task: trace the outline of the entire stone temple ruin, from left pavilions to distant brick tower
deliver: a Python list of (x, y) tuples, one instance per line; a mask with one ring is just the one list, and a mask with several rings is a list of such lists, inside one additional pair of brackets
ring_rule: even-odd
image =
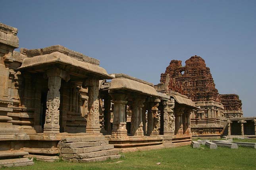
[[(99, 60), (61, 45), (14, 51), (17, 32), (0, 23), (0, 166), (116, 159), (237, 134), (231, 125), (249, 120), (237, 95), (218, 93), (198, 56), (184, 67), (172, 60), (154, 85), (108, 74)], [(255, 119), (241, 135), (256, 135)]]

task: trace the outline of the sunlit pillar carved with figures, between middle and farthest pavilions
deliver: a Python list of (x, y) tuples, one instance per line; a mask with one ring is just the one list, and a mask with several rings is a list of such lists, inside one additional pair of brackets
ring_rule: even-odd
[(175, 117), (173, 114), (174, 99), (162, 101), (164, 106), (164, 135), (174, 134)]

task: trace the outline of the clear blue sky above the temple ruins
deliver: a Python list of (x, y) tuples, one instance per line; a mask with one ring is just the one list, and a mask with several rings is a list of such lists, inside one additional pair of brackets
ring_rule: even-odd
[(256, 0), (0, 0), (20, 47), (64, 45), (108, 73), (159, 83), (169, 62), (199, 55), (220, 94), (256, 116)]

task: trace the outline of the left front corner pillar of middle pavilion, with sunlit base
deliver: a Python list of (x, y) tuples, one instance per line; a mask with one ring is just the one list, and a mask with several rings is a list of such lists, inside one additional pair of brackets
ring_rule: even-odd
[(112, 94), (114, 99), (114, 120), (113, 130), (111, 135), (114, 137), (127, 136), (126, 121), (125, 121), (125, 104), (127, 104), (127, 94), (115, 93)]

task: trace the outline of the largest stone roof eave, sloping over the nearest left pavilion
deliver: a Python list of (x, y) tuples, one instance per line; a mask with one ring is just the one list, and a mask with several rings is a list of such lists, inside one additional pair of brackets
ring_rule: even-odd
[(58, 65), (65, 71), (79, 71), (81, 75), (85, 74), (87, 76), (89, 75), (90, 77), (97, 77), (98, 79), (114, 78), (114, 76), (109, 75), (104, 68), (96, 64), (82, 62), (60, 52), (25, 58), (18, 69), (28, 70), (31, 72), (44, 72), (53, 65)]

